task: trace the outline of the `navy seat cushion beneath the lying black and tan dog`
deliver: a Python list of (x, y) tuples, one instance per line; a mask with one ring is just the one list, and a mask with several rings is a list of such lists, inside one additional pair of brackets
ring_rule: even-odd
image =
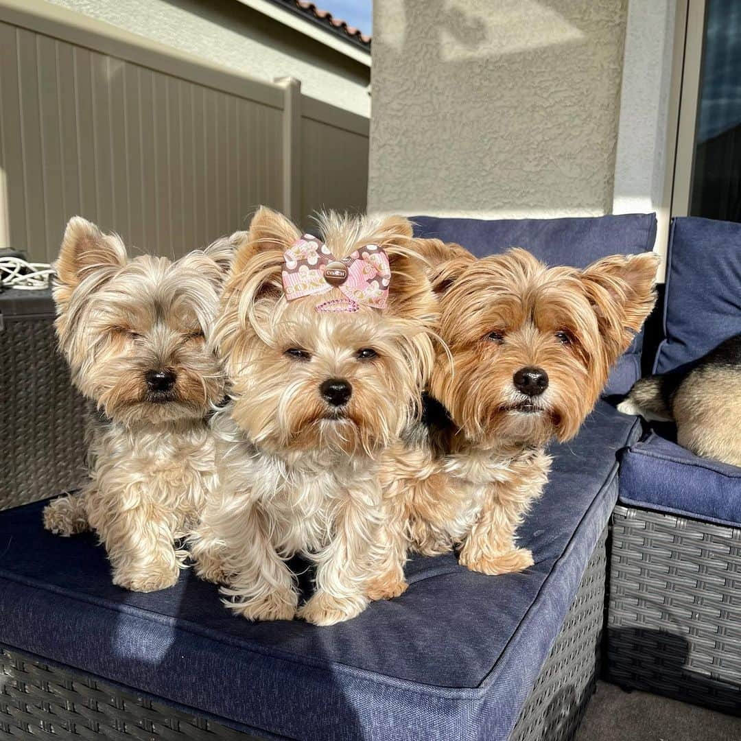
[(741, 468), (700, 458), (662, 435), (652, 431), (622, 454), (620, 501), (741, 527)]

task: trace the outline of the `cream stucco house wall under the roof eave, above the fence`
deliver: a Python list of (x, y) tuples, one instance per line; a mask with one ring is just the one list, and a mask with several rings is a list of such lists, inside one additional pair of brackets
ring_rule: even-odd
[(47, 0), (187, 54), (302, 92), (361, 116), (370, 113), (370, 70), (236, 0)]

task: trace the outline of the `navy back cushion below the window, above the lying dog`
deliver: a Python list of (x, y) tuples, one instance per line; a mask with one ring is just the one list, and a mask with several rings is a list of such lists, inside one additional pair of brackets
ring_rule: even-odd
[(687, 365), (741, 333), (741, 224), (674, 219), (666, 273), (664, 340), (655, 373)]

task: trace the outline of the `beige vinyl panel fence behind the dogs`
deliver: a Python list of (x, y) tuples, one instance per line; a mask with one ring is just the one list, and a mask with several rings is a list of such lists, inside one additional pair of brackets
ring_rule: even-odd
[(0, 0), (0, 247), (56, 256), (85, 216), (179, 256), (260, 204), (364, 211), (368, 119), (42, 0)]

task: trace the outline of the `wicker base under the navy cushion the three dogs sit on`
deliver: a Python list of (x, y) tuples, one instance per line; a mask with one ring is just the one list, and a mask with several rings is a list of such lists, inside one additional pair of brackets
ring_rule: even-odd
[[(605, 534), (511, 739), (565, 741), (573, 737), (594, 691), (604, 597)], [(136, 697), (0, 647), (0, 738), (51, 734), (59, 739), (90, 740), (254, 740), (165, 702)]]

